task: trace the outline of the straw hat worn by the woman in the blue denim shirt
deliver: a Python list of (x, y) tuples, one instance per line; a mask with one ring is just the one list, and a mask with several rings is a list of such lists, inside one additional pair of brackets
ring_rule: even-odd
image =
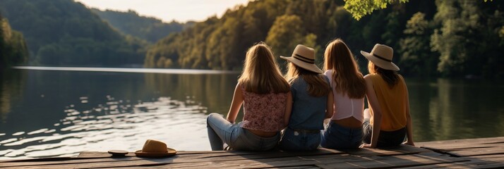
[(310, 70), (314, 73), (322, 73), (322, 70), (315, 65), (315, 50), (302, 44), (298, 44), (296, 46), (291, 57), (280, 56), (280, 58), (290, 61), (294, 63), (294, 65)]

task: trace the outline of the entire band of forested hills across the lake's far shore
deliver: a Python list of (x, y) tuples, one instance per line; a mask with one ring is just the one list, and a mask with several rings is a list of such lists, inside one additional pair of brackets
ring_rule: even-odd
[[(366, 4), (373, 2), (383, 4)], [(203, 22), (162, 23), (73, 0), (2, 0), (1, 64), (241, 70), (248, 47), (266, 42), (275, 56), (289, 56), (296, 44), (311, 46), (321, 66), (325, 45), (341, 38), (363, 73), (359, 51), (380, 43), (392, 46), (404, 75), (502, 79), (503, 6), (496, 0), (259, 0)]]

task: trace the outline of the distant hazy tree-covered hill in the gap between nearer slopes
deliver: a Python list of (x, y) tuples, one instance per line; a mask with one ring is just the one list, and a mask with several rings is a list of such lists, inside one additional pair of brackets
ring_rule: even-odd
[(150, 43), (157, 42), (172, 32), (181, 32), (184, 29), (183, 23), (176, 21), (163, 23), (162, 20), (140, 16), (131, 10), (127, 12), (100, 11), (97, 8), (92, 8), (92, 11), (124, 34), (144, 39)]

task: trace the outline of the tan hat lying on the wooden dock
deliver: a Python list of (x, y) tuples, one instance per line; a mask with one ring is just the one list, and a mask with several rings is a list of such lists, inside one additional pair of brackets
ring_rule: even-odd
[(168, 148), (167, 144), (154, 139), (148, 139), (143, 144), (143, 148), (135, 152), (136, 156), (142, 157), (164, 157), (176, 154), (175, 149)]

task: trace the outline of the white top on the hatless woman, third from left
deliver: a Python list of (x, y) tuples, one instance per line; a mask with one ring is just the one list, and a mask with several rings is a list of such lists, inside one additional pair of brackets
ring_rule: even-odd
[(334, 72), (327, 70), (324, 73), (331, 84), (332, 94), (334, 94), (334, 112), (332, 120), (340, 120), (344, 118), (354, 117), (359, 121), (364, 120), (364, 97), (361, 99), (350, 99), (347, 94), (336, 92), (335, 82), (332, 79)]

